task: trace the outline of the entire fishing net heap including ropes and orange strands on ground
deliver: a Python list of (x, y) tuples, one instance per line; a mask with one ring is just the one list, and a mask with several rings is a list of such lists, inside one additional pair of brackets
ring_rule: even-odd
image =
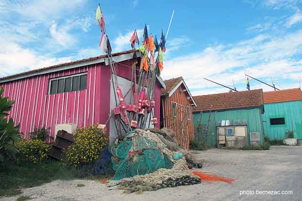
[[(183, 157), (179, 157), (180, 153)], [(118, 185), (117, 188), (125, 193), (139, 194), (160, 188), (197, 184), (201, 181), (234, 181), (190, 171), (189, 168), (196, 164), (196, 159), (178, 146), (173, 131), (167, 128), (135, 129), (128, 133), (122, 142), (111, 148), (111, 154), (115, 175), (108, 186)]]

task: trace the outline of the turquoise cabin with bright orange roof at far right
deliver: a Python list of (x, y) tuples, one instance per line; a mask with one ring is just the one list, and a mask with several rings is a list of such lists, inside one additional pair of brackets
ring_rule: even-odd
[(300, 88), (266, 91), (263, 126), (270, 140), (283, 140), (287, 131), (302, 140), (302, 92)]

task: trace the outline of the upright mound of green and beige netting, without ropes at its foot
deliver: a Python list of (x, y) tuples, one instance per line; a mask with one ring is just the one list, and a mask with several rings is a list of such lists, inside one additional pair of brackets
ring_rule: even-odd
[[(111, 154), (115, 181), (152, 173), (160, 168), (170, 169), (176, 163), (173, 159), (175, 153), (157, 134), (142, 129), (127, 134), (123, 142), (111, 148)], [(188, 169), (183, 161), (182, 169)]]

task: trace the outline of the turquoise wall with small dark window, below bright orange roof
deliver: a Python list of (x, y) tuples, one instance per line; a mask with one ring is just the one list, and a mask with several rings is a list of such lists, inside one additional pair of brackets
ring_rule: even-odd
[[(270, 118), (284, 117), (285, 125), (270, 125)], [(292, 130), (302, 139), (302, 101), (264, 104), (264, 135), (270, 140), (283, 140), (285, 132)]]

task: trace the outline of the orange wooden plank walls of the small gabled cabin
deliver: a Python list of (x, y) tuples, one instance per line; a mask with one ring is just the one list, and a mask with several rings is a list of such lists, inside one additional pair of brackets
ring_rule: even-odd
[[(188, 94), (186, 92), (180, 93), (180, 89), (184, 89), (184, 87), (180, 86), (171, 97), (169, 95), (163, 97), (164, 127), (174, 130), (179, 145), (189, 149), (190, 140), (194, 138), (192, 106), (191, 102), (187, 99)], [(171, 102), (177, 103), (176, 117), (172, 117)], [(189, 118), (187, 107), (190, 110)]]

